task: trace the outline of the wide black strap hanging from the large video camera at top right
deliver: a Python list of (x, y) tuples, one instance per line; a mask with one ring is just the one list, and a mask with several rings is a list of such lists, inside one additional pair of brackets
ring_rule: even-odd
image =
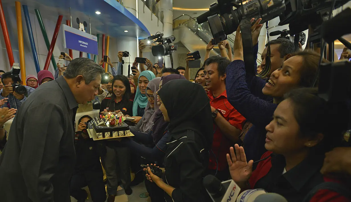
[(255, 75), (254, 57), (252, 53), (251, 22), (244, 17), (240, 22), (241, 37), (243, 40), (243, 54), (246, 74)]

